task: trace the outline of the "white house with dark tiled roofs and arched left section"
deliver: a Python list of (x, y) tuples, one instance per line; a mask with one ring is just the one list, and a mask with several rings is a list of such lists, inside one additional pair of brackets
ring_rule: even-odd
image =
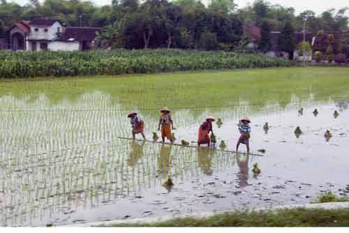
[(75, 51), (96, 46), (100, 28), (64, 27), (59, 20), (39, 18), (22, 21), (8, 29), (11, 50)]

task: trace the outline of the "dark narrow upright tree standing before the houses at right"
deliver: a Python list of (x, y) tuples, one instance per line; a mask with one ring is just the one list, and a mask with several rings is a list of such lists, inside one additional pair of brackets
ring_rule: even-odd
[(293, 59), (293, 51), (295, 50), (295, 29), (293, 29), (291, 22), (285, 22), (280, 35), (279, 42), (280, 50), (288, 52), (289, 59)]

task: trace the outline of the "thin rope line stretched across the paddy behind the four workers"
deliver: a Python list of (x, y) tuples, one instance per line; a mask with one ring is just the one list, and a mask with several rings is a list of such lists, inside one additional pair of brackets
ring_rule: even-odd
[[(294, 103), (311, 103), (314, 101), (320, 101), (322, 99), (313, 99), (313, 100), (299, 100), (299, 101), (292, 101), (288, 104), (294, 104)], [(331, 100), (335, 101), (345, 101), (346, 97), (343, 98), (332, 98)], [(327, 100), (322, 100), (327, 101)], [(280, 102), (283, 103), (283, 102)], [(188, 106), (188, 107), (171, 107), (172, 110), (187, 110), (187, 109), (205, 109), (207, 107), (248, 107), (248, 106), (257, 106), (258, 103), (250, 103), (246, 105), (210, 105), (210, 106)], [(0, 112), (60, 112), (60, 111), (66, 111), (66, 112), (94, 112), (94, 111), (109, 111), (109, 112), (124, 112), (124, 111), (131, 111), (134, 110), (133, 108), (124, 108), (124, 109), (85, 109), (85, 110), (72, 110), (72, 109), (57, 109), (57, 110), (45, 110), (45, 109), (38, 109), (38, 110), (1, 110)], [(159, 107), (151, 107), (151, 108), (138, 108), (138, 111), (158, 111)]]

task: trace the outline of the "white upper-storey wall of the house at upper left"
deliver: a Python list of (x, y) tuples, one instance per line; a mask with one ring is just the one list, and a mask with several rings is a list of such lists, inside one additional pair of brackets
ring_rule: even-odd
[[(57, 28), (59, 27), (60, 32), (62, 32), (62, 25), (59, 22), (55, 22), (50, 27), (38, 27), (35, 25), (30, 25), (30, 33), (28, 35), (29, 40), (52, 40), (57, 38)], [(38, 31), (35, 31), (38, 29)], [(45, 32), (47, 29), (47, 32)]]

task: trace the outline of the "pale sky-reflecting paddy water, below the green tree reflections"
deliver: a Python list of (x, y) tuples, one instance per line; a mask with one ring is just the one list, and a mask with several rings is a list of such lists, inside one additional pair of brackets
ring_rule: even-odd
[[(328, 190), (348, 195), (348, 100), (309, 96), (282, 106), (271, 101), (261, 109), (241, 100), (172, 112), (177, 142), (195, 141), (200, 123), (214, 115), (223, 121), (221, 128), (214, 124), (218, 144), (224, 140), (229, 150), (239, 137), (238, 119), (248, 115), (251, 151), (266, 153), (246, 156), (121, 140), (131, 136), (128, 110), (103, 91), (54, 105), (45, 95), (2, 96), (0, 223), (66, 225), (309, 203)], [(157, 111), (142, 110), (140, 117), (150, 140)], [(332, 133), (328, 141), (326, 130)], [(262, 171), (257, 176), (254, 163)], [(168, 177), (171, 190), (162, 186)]]

